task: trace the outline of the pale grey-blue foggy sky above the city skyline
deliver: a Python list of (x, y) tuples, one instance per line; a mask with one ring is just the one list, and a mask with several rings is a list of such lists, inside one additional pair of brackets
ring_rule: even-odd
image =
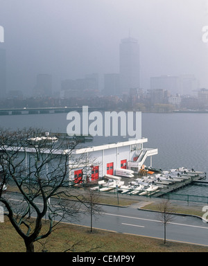
[[(208, 89), (208, 0), (0, 0), (8, 90), (31, 94), (39, 73), (61, 80), (119, 73), (121, 39), (140, 45), (141, 87), (151, 76), (194, 74)], [(103, 89), (103, 88), (101, 88)]]

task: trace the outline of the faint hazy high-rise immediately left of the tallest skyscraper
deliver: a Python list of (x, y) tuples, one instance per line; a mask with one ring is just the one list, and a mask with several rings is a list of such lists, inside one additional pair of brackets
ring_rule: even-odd
[(109, 73), (104, 75), (104, 95), (119, 95), (119, 74)]

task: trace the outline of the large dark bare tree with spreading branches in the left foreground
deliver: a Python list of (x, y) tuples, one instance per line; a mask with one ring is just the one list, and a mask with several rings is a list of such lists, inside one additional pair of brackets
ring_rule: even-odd
[[(82, 197), (73, 193), (69, 177), (73, 169), (87, 169), (87, 164), (85, 154), (74, 154), (77, 143), (76, 139), (42, 135), (42, 130), (33, 128), (0, 128), (0, 202), (26, 251), (34, 251), (34, 243), (47, 238), (63, 219), (78, 219)], [(5, 184), (14, 186), (18, 201), (3, 193)], [(43, 231), (45, 218), (47, 229)]]

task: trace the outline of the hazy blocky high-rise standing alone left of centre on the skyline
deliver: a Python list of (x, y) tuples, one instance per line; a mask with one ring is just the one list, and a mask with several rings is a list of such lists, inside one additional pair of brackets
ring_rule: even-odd
[(52, 96), (52, 76), (49, 74), (37, 75), (37, 82), (33, 89), (33, 96)]

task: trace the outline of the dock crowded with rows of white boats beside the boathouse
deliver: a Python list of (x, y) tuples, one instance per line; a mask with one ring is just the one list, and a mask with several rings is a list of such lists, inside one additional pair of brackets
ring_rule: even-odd
[[(187, 168), (177, 168), (170, 171), (160, 170), (160, 172), (151, 171), (151, 174), (149, 172), (148, 174), (144, 176), (135, 173), (134, 177), (119, 177), (121, 180), (112, 190), (101, 190), (100, 186), (92, 189), (121, 193), (122, 195), (161, 197), (191, 184), (208, 184), (206, 172), (188, 170)], [(105, 181), (103, 182), (102, 186), (105, 187)]]

